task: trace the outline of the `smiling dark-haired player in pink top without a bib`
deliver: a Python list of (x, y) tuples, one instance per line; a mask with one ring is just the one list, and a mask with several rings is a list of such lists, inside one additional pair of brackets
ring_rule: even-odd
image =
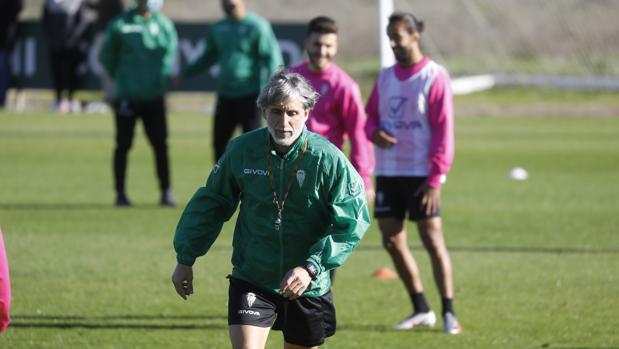
[(331, 18), (320, 16), (312, 19), (305, 40), (308, 60), (290, 70), (303, 75), (320, 94), (307, 128), (340, 149), (344, 139), (348, 138), (350, 162), (363, 178), (368, 201), (373, 201), (374, 153), (364, 130), (367, 117), (359, 85), (333, 62), (337, 53), (337, 31)]

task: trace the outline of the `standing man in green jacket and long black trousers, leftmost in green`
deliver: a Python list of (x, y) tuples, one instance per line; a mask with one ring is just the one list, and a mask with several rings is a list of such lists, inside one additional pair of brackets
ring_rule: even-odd
[(131, 206), (125, 192), (125, 175), (138, 118), (155, 152), (160, 204), (175, 205), (170, 192), (164, 95), (178, 39), (174, 24), (159, 13), (162, 4), (163, 0), (137, 0), (131, 10), (108, 25), (99, 54), (101, 64), (115, 82), (116, 206)]

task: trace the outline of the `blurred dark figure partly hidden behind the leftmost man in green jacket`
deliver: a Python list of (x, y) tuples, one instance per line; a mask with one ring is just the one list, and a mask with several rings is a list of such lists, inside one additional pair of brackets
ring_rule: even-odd
[(91, 67), (101, 82), (103, 98), (107, 103), (111, 104), (114, 98), (114, 81), (107, 74), (105, 69), (101, 67), (97, 57), (99, 56), (101, 45), (103, 44), (105, 28), (114, 17), (123, 12), (123, 2), (122, 0), (98, 0), (89, 1), (87, 4), (89, 8), (93, 9), (97, 13), (97, 19), (94, 26), (95, 38), (92, 43), (92, 50), (90, 50), (92, 57), (90, 60)]

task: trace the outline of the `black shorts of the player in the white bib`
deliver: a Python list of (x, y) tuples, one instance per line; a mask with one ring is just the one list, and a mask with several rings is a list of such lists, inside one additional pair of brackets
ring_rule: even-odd
[(425, 208), (421, 207), (423, 195), (415, 195), (426, 179), (427, 177), (377, 176), (374, 217), (404, 219), (406, 210), (411, 221), (440, 217), (440, 209), (426, 214)]

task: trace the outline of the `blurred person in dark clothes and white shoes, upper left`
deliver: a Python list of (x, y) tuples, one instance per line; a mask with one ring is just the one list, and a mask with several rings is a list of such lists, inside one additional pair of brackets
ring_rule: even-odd
[(45, 0), (43, 29), (55, 92), (54, 111), (59, 113), (81, 111), (74, 97), (79, 85), (78, 67), (84, 58), (79, 41), (87, 27), (82, 0)]

